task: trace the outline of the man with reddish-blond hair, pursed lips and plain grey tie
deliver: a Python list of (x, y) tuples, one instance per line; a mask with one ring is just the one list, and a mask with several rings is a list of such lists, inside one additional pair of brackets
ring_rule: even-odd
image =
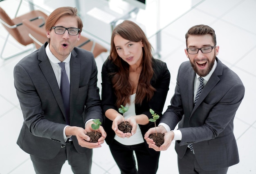
[(65, 161), (74, 173), (91, 173), (93, 119), (103, 120), (97, 66), (91, 52), (75, 47), (83, 23), (77, 9), (60, 7), (45, 23), (46, 42), (14, 67), (24, 122), (17, 144), (30, 154), (36, 174), (59, 174)]

